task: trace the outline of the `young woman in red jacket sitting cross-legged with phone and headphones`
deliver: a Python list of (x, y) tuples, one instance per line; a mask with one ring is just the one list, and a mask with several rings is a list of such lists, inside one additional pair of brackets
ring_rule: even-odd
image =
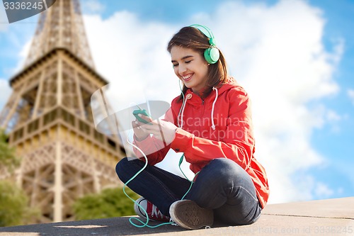
[[(164, 120), (141, 116), (150, 124), (132, 122), (135, 145), (148, 159), (146, 169), (127, 185), (143, 196), (135, 211), (146, 218), (144, 208), (149, 219), (171, 220), (186, 229), (215, 222), (256, 222), (269, 189), (265, 170), (253, 156), (248, 94), (227, 74), (224, 56), (209, 28), (182, 28), (167, 50), (183, 91), (173, 99)], [(190, 169), (198, 173), (190, 191), (190, 181), (154, 167), (170, 148), (183, 152)], [(144, 164), (143, 158), (125, 158), (118, 162), (116, 172), (126, 183)]]

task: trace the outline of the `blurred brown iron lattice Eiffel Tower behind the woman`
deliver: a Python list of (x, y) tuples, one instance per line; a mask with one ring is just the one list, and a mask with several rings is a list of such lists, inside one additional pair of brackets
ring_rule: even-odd
[[(115, 164), (125, 155), (118, 137), (93, 125), (91, 95), (108, 82), (95, 71), (79, 0), (57, 0), (41, 13), (10, 84), (0, 127), (22, 157), (16, 181), (40, 208), (40, 223), (74, 220), (76, 198), (120, 184)], [(8, 178), (0, 167), (0, 179)]]

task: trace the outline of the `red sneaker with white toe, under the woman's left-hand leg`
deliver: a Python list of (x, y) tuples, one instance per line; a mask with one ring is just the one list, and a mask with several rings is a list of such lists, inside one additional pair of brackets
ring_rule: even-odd
[[(139, 206), (139, 205), (140, 206)], [(161, 213), (159, 208), (157, 208), (154, 204), (150, 203), (147, 201), (147, 199), (141, 197), (135, 201), (134, 204), (134, 210), (137, 215), (139, 215), (141, 218), (146, 219), (147, 215), (145, 215), (144, 210), (146, 210), (147, 215), (149, 216), (149, 220), (154, 220), (154, 221), (163, 221), (163, 222), (169, 222), (170, 218), (164, 214)]]

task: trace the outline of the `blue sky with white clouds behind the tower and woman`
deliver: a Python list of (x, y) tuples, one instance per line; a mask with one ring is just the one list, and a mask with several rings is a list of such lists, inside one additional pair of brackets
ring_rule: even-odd
[[(354, 196), (354, 1), (81, 3), (98, 72), (115, 89), (125, 83), (117, 78), (150, 84), (147, 94), (166, 101), (178, 94), (166, 43), (182, 26), (210, 26), (253, 99), (257, 159), (270, 176), (271, 201)], [(0, 109), (38, 18), (8, 25), (1, 7)]]

